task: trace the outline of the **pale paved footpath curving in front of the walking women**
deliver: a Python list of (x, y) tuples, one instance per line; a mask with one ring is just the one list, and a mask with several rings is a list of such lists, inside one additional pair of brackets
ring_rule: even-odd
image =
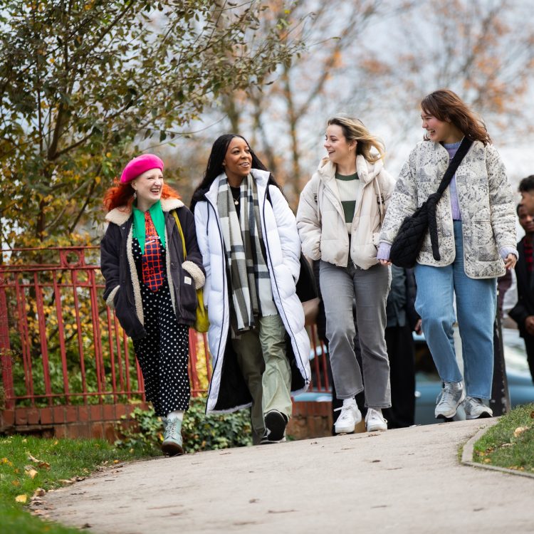
[(45, 502), (52, 520), (101, 534), (533, 533), (534, 478), (459, 463), (489, 423), (140, 461)]

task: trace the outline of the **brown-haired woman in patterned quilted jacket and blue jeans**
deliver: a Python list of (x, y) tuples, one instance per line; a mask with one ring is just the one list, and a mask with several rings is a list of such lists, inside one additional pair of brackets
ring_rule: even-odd
[[(437, 191), (461, 140), (472, 140), (436, 207), (441, 258), (434, 259), (428, 232), (417, 258), (416, 310), (444, 382), (436, 418), (451, 419), (462, 403), (467, 419), (492, 417), (486, 404), (493, 377), (496, 281), (518, 258), (513, 195), (486, 126), (458, 95), (436, 90), (422, 100), (421, 110), (424, 140), (402, 168), (377, 257), (382, 265), (389, 265), (391, 244), (404, 217)], [(462, 342), (463, 377), (454, 350), (455, 321)]]

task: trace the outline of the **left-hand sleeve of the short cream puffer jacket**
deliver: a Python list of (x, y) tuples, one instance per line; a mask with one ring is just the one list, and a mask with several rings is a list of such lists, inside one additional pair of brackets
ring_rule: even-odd
[(321, 224), (318, 216), (318, 179), (312, 177), (300, 193), (297, 209), (297, 228), (305, 256), (320, 260)]

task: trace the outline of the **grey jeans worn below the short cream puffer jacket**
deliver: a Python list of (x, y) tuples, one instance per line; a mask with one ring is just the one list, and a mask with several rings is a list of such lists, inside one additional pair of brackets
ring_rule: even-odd
[[(365, 384), (365, 405), (389, 408), (391, 390), (384, 329), (391, 270), (378, 264), (363, 270), (355, 268), (352, 261), (349, 263), (343, 268), (320, 262), (320, 289), (325, 305), (326, 337), (337, 398), (350, 399), (362, 392)], [(362, 350), (362, 370), (353, 345), (353, 298)]]

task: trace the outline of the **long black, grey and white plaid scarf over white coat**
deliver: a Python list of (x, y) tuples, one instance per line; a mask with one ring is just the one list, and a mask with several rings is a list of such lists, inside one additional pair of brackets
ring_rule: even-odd
[(237, 216), (226, 174), (219, 176), (217, 209), (229, 265), (234, 333), (251, 330), (258, 317), (275, 315), (271, 277), (265, 263), (256, 182), (251, 174), (241, 182), (240, 216)]

